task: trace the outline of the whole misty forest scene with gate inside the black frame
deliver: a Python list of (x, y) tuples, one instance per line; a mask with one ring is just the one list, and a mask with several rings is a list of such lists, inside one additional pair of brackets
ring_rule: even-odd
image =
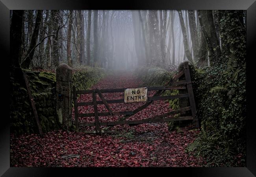
[(11, 10), (10, 50), (13, 167), (246, 166), (244, 10)]

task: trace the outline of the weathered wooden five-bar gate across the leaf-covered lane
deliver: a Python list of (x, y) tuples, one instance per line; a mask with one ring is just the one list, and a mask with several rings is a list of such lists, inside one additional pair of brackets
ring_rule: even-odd
[[(147, 97), (147, 102), (135, 109), (134, 111), (121, 111), (121, 112), (113, 112), (108, 104), (110, 103), (124, 103), (124, 99), (121, 100), (105, 100), (105, 98), (102, 96), (102, 93), (113, 93), (113, 92), (124, 92), (125, 88), (118, 88), (118, 89), (93, 89), (93, 90), (76, 90), (75, 87), (73, 87), (73, 99), (74, 99), (74, 113), (75, 113), (75, 124), (76, 124), (76, 131), (79, 131), (80, 126), (95, 126), (95, 131), (83, 131), (85, 133), (111, 133), (111, 131), (108, 131), (109, 127), (112, 127), (114, 125), (138, 125), (138, 124), (145, 124), (145, 123), (156, 123), (156, 122), (170, 122), (170, 121), (180, 121), (180, 120), (193, 120), (195, 123), (195, 126), (199, 128), (198, 119), (196, 118), (196, 107), (195, 107), (195, 99), (192, 89), (192, 82), (189, 72), (189, 66), (188, 63), (185, 62), (184, 69), (178, 73), (176, 76), (169, 81), (167, 86), (160, 86), (160, 87), (147, 87), (147, 90), (158, 90), (154, 96)], [(180, 77), (185, 75), (185, 80), (179, 80)], [(187, 90), (184, 94), (177, 94), (177, 95), (171, 95), (171, 96), (161, 96), (163, 91), (165, 90), (176, 90), (176, 89), (183, 89)], [(77, 102), (77, 94), (92, 94), (93, 101), (89, 102)], [(100, 97), (102, 101), (96, 101), (96, 94)], [(137, 112), (145, 109), (148, 105), (150, 105), (155, 100), (169, 100), (169, 99), (176, 99), (176, 98), (189, 98), (190, 106), (183, 107), (177, 110), (173, 110), (171, 112), (167, 112), (165, 114), (161, 114), (158, 116), (146, 118), (143, 120), (126, 120), (130, 116), (136, 114)], [(108, 112), (98, 112), (97, 105), (104, 104), (106, 108), (108, 109)], [(78, 114), (78, 106), (85, 106), (85, 105), (93, 105), (94, 106), (94, 112), (93, 113), (83, 113)], [(181, 112), (189, 111), (191, 110), (191, 116), (180, 116), (180, 117), (171, 117), (166, 118), (168, 116), (178, 114)], [(117, 121), (113, 122), (100, 122), (98, 116), (113, 116), (113, 115), (124, 115), (122, 118), (119, 118)], [(79, 117), (89, 117), (94, 116), (95, 122), (88, 122), (88, 123), (79, 123), (78, 118)], [(100, 129), (100, 126), (107, 126), (103, 129)]]

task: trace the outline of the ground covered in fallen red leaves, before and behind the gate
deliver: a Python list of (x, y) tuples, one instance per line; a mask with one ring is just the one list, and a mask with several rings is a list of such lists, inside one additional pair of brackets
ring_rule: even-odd
[[(143, 83), (132, 74), (122, 73), (102, 79), (93, 88), (135, 88)], [(152, 96), (155, 91), (150, 91)], [(123, 93), (103, 93), (106, 100), (122, 99)], [(91, 101), (91, 94), (81, 94), (78, 102)], [(97, 96), (97, 100), (100, 98)], [(144, 103), (110, 104), (113, 111), (134, 110)], [(80, 113), (94, 112), (93, 106), (79, 107)], [(99, 112), (107, 111), (98, 105)], [(154, 101), (147, 108), (127, 120), (139, 120), (171, 111), (165, 100)], [(72, 113), (74, 122), (74, 110)], [(100, 121), (114, 121), (121, 116), (100, 116)], [(94, 117), (79, 118), (79, 122), (93, 122)], [(81, 127), (80, 127), (81, 128)], [(94, 127), (89, 127), (92, 129)], [(89, 130), (88, 129), (88, 130)], [(198, 167), (206, 162), (186, 153), (186, 147), (199, 133), (194, 125), (169, 131), (167, 123), (117, 125), (115, 134), (93, 135), (66, 131), (52, 131), (39, 135), (11, 135), (11, 167)]]

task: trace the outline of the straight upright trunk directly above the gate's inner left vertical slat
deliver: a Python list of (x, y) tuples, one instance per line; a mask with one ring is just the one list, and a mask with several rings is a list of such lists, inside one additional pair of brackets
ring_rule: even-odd
[(94, 38), (93, 67), (98, 67), (98, 10), (94, 10), (93, 38)]

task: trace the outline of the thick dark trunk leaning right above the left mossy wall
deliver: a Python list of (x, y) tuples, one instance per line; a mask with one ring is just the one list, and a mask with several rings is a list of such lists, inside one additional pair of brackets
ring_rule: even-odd
[(28, 69), (30, 66), (30, 62), (33, 59), (33, 55), (35, 52), (35, 46), (37, 44), (37, 38), (38, 38), (38, 33), (39, 33), (39, 28), (40, 28), (40, 24), (42, 22), (42, 10), (38, 10), (37, 11), (37, 17), (35, 19), (35, 28), (33, 30), (33, 35), (30, 41), (30, 47), (28, 50), (28, 56), (24, 58), (24, 60), (22, 61), (22, 68)]

